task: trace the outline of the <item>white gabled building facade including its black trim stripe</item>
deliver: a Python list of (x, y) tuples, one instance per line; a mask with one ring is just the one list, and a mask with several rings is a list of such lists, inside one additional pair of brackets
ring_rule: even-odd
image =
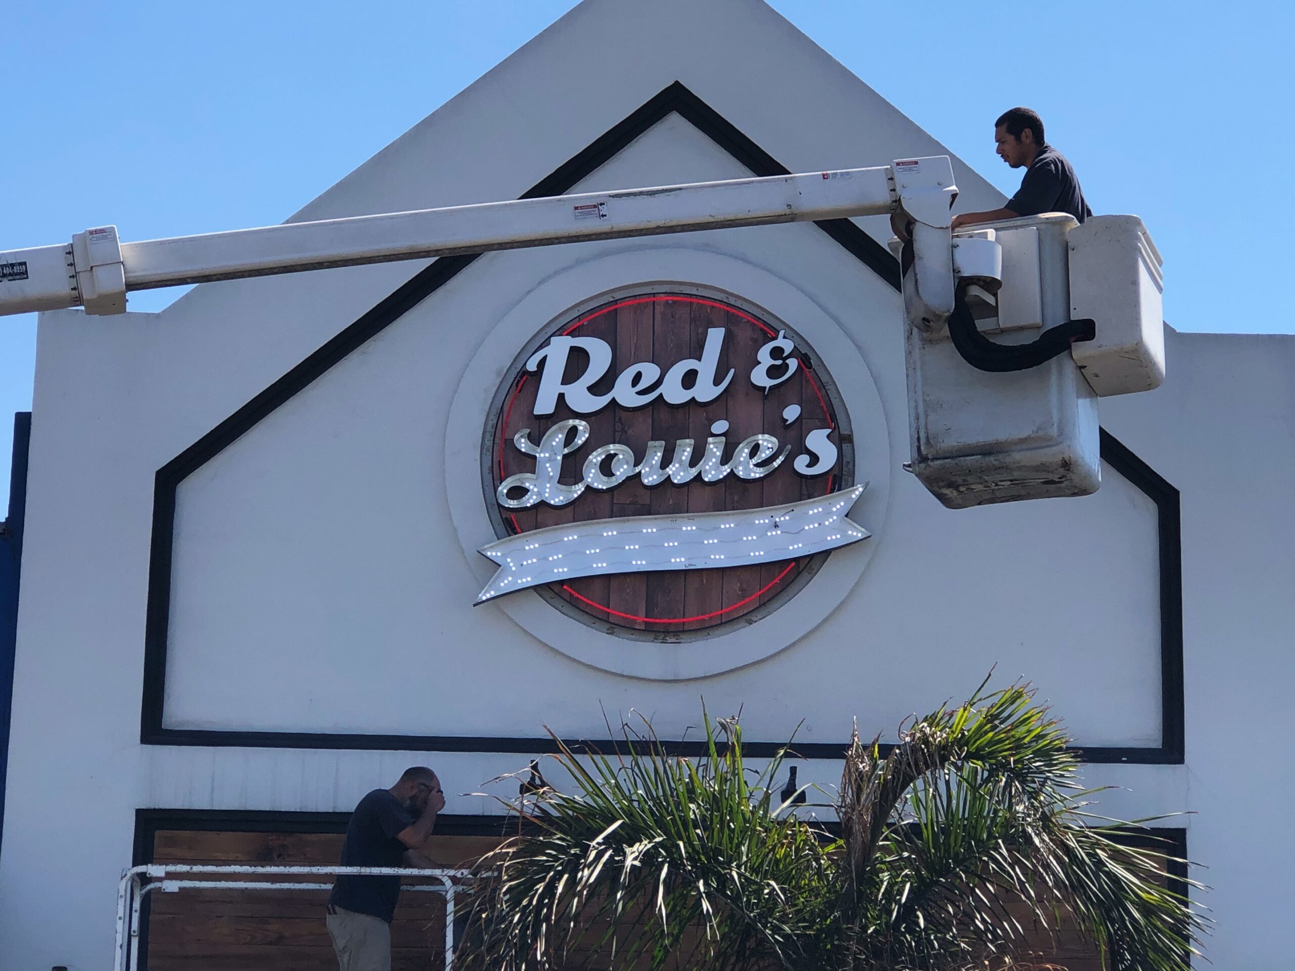
[[(293, 219), (935, 154), (756, 0), (588, 0)], [(1002, 203), (954, 167), (958, 211)], [(703, 698), (742, 709), (758, 755), (795, 731), (800, 781), (828, 786), (852, 719), (894, 738), (993, 669), (1036, 685), (1087, 781), (1119, 787), (1103, 810), (1188, 813), (1158, 825), (1208, 867), (1193, 875), (1212, 887), (1215, 966), (1285, 967), (1295, 339), (1171, 331), (1164, 386), (1101, 403), (1094, 496), (951, 511), (903, 470), (888, 236), (872, 219), (726, 229), (43, 315), (4, 535), (21, 588), (13, 571), (0, 590), (6, 621), (21, 589), (0, 623), (0, 965), (106, 967), (117, 879), (158, 831), (326, 829), (426, 763), (445, 825), (480, 832), (501, 808), (457, 794), (552, 751), (545, 726), (600, 742), (636, 711), (695, 738)], [(526, 365), (572, 337), (609, 347), (609, 373), (583, 410), (545, 408)], [(763, 372), (768, 387), (780, 338), (798, 368)], [(689, 361), (681, 403), (611, 397), (616, 374)], [(588, 432), (572, 462), (620, 444), (638, 466), (660, 440), (666, 470), (692, 440), (698, 471), (649, 483), (611, 449), (598, 487), (509, 505), (543, 479), (521, 432), (539, 443), (559, 418)], [(752, 436), (773, 441), (751, 445), (760, 474), (708, 480), (702, 443), (725, 439), (732, 466)], [(737, 522), (865, 483), (850, 522), (866, 536), (828, 553), (763, 563), (736, 541), (756, 558), (477, 603), (496, 572), (480, 548), (513, 536)]]

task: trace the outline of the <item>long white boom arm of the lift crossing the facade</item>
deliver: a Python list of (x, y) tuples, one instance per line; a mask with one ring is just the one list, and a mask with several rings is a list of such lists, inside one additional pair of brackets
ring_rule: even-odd
[(912, 227), (909, 317), (936, 325), (953, 311), (945, 155), (835, 172), (736, 179), (557, 195), (376, 216), (289, 223), (170, 240), (120, 242), (117, 227), (70, 245), (0, 251), (0, 315), (84, 307), (126, 311), (126, 294), (212, 280), (297, 273), (527, 246), (899, 214)]

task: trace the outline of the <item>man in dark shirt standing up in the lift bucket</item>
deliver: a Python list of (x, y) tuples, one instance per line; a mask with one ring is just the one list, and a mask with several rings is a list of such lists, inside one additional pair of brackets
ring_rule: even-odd
[(954, 216), (953, 229), (1000, 219), (1037, 216), (1042, 212), (1068, 212), (1080, 223), (1093, 215), (1084, 201), (1075, 170), (1064, 155), (1044, 141), (1044, 123), (1035, 111), (1014, 107), (993, 124), (998, 157), (1013, 168), (1026, 168), (1020, 189), (1002, 208)]

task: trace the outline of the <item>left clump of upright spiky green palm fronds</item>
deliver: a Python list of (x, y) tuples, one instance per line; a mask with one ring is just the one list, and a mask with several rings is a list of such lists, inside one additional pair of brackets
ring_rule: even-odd
[(581, 757), (554, 737), (574, 791), (534, 796), (535, 835), (482, 861), (499, 876), (478, 901), (477, 957), (504, 971), (581, 952), (660, 968), (685, 949), (715, 968), (802, 965), (830, 910), (805, 906), (830, 898), (821, 834), (777, 814), (782, 755), (752, 772), (736, 721), (704, 729), (695, 760), (650, 726), (625, 730), (627, 753)]

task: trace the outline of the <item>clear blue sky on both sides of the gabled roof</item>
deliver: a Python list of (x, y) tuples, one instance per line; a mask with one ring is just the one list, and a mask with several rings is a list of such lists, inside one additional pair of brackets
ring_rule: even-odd
[[(144, 240), (281, 221), (572, 5), (9, 4), (0, 249), (107, 223)], [(1295, 4), (773, 6), (1004, 192), (1019, 173), (992, 122), (1035, 107), (1093, 208), (1147, 223), (1180, 330), (1295, 331), (1278, 269)], [(0, 473), (34, 360), (35, 317), (0, 317)], [(0, 517), (6, 497), (4, 474)]]

